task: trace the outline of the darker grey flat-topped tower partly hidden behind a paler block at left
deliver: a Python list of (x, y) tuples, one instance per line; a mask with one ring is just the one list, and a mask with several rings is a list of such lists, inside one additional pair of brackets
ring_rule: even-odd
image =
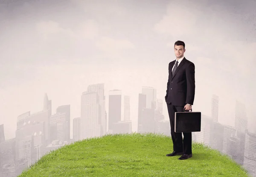
[(56, 113), (65, 114), (65, 141), (70, 141), (70, 104), (57, 107)]

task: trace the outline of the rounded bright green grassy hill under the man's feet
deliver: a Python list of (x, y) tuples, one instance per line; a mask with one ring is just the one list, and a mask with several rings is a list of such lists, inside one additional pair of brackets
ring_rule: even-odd
[(247, 177), (227, 156), (200, 143), (193, 157), (178, 160), (172, 139), (156, 134), (105, 135), (44, 155), (19, 177)]

